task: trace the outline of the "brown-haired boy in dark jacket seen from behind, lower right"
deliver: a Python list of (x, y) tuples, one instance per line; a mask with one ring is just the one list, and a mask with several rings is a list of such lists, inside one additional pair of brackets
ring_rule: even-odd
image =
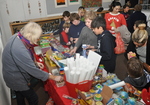
[(149, 88), (150, 86), (150, 74), (144, 70), (143, 64), (137, 57), (132, 57), (127, 62), (128, 77), (125, 78), (125, 82), (131, 84), (138, 90), (143, 88)]

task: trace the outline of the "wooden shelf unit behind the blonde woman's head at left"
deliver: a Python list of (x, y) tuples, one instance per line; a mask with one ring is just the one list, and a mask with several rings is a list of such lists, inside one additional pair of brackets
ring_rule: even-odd
[(49, 35), (50, 33), (55, 32), (59, 28), (59, 24), (62, 20), (62, 16), (53, 16), (53, 17), (46, 17), (46, 18), (38, 18), (38, 19), (30, 19), (28, 21), (15, 21), (15, 22), (10, 22), (10, 28), (12, 35), (15, 33), (19, 32), (20, 29), (27, 24), (28, 22), (36, 22), (38, 23), (42, 30), (43, 30), (43, 35)]

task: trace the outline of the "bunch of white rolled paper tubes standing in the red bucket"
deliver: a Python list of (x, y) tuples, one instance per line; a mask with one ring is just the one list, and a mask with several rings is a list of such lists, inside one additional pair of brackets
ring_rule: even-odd
[(85, 80), (92, 80), (96, 73), (96, 66), (88, 59), (76, 53), (74, 57), (67, 58), (67, 66), (64, 67), (66, 80), (76, 84)]

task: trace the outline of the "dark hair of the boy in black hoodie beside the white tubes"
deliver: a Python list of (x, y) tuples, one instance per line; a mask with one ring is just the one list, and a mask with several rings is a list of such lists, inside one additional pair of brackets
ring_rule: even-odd
[(103, 30), (106, 30), (106, 21), (103, 17), (97, 16), (91, 23), (91, 28), (102, 27)]

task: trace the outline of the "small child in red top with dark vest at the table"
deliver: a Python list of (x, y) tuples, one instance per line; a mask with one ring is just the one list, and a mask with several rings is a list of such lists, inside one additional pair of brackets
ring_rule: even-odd
[(68, 37), (68, 31), (69, 31), (69, 27), (70, 27), (70, 23), (64, 23), (63, 24), (63, 31), (60, 34), (60, 43), (65, 47), (65, 48), (69, 48), (71, 45), (71, 42), (69, 41), (69, 37)]

